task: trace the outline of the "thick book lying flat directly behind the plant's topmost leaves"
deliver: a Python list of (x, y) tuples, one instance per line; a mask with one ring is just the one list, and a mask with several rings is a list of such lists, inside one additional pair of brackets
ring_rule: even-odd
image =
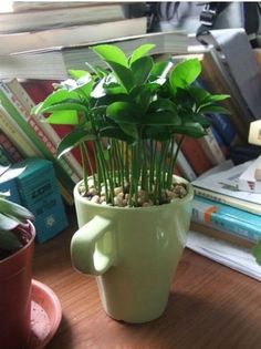
[(55, 47), (48, 50), (20, 52), (9, 57), (2, 55), (0, 79), (64, 80), (69, 78), (69, 70), (86, 70), (86, 62), (92, 65), (105, 66), (105, 63), (92, 51), (92, 47), (98, 43), (116, 44), (126, 55), (129, 55), (135, 49), (145, 43), (156, 45), (150, 51), (152, 54), (181, 54), (187, 52), (189, 39), (186, 33), (180, 31), (156, 32), (103, 40), (92, 44)]

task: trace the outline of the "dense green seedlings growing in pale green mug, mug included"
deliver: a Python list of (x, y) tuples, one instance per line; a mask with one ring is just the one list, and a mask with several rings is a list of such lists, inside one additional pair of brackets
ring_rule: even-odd
[(166, 307), (194, 195), (174, 166), (184, 137), (203, 136), (205, 114), (225, 112), (218, 102), (227, 97), (195, 84), (197, 59), (155, 62), (153, 48), (127, 58), (116, 45), (94, 47), (105, 68), (70, 71), (72, 79), (33, 110), (73, 126), (58, 147), (59, 156), (74, 146), (82, 154), (72, 261), (97, 276), (106, 312), (128, 322), (155, 319)]

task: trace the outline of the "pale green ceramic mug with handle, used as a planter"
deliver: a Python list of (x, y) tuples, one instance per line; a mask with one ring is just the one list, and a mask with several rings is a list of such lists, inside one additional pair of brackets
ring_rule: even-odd
[(79, 186), (74, 189), (80, 229), (71, 243), (73, 266), (97, 276), (103, 307), (112, 318), (126, 322), (158, 318), (186, 244), (192, 186), (188, 184), (182, 199), (142, 208), (92, 204), (79, 194)]

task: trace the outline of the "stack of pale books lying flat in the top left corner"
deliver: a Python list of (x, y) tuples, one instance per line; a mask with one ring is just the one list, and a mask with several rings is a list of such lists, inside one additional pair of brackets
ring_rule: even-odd
[(129, 3), (13, 1), (0, 13), (0, 53), (72, 47), (146, 33), (145, 16), (130, 18)]

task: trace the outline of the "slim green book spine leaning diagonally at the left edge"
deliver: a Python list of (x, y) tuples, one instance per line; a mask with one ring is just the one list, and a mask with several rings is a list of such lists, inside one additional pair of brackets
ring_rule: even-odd
[(32, 129), (32, 125), (28, 123), (27, 120), (20, 114), (17, 106), (12, 103), (12, 94), (4, 83), (0, 82), (0, 97), (3, 107), (9, 112), (9, 114), (17, 122), (18, 126), (23, 130), (24, 133), (32, 140), (32, 142), (38, 147), (39, 152), (43, 157), (52, 161), (56, 175), (63, 185), (69, 188), (69, 191), (73, 192), (74, 183), (67, 172), (62, 167), (61, 163), (53, 156), (53, 154), (46, 148), (45, 144), (42, 143), (39, 135)]

